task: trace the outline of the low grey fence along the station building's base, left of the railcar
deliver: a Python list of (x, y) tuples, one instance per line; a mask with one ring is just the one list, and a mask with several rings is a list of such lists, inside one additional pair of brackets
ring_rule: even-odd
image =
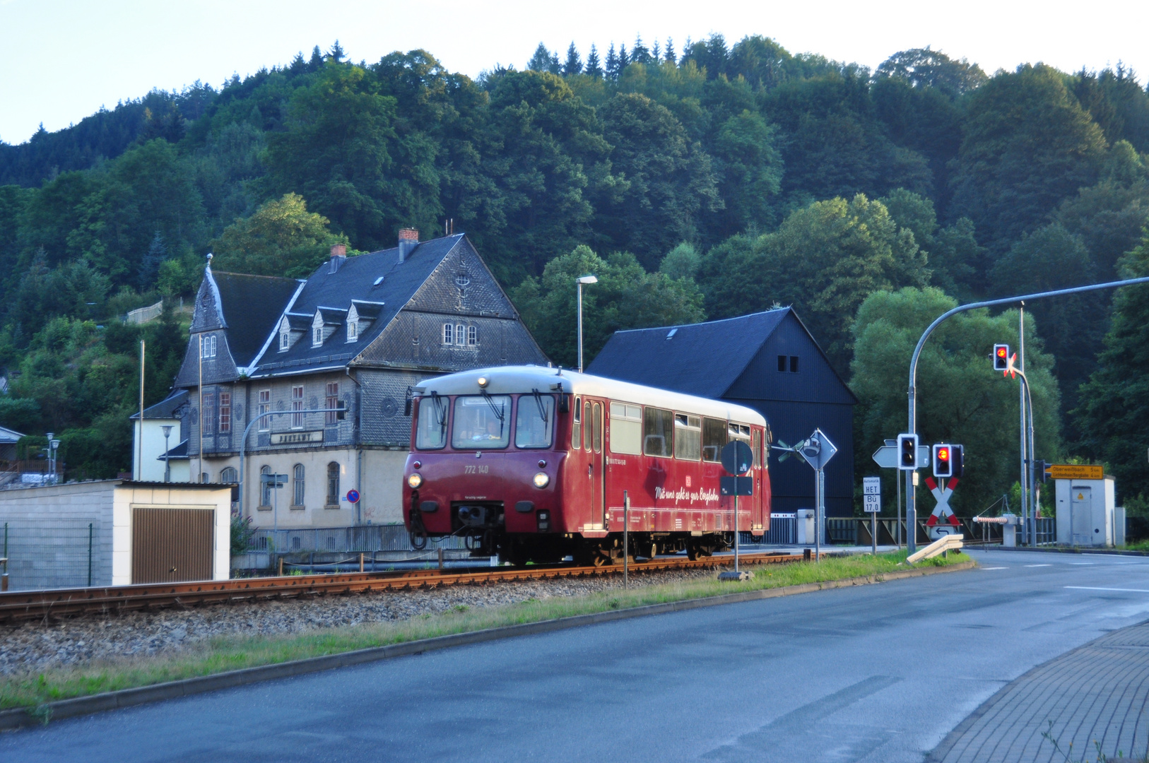
[[(422, 553), (466, 550), (464, 539), (452, 535), (430, 539)], [(416, 553), (403, 525), (360, 525), (355, 527), (315, 527), (301, 530), (256, 530), (247, 547), (271, 554), (373, 554), (377, 552)]]

